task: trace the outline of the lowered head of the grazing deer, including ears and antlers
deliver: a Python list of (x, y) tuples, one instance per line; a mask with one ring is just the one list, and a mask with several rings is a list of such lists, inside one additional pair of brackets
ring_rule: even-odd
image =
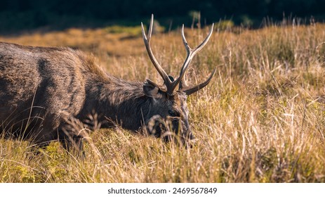
[[(210, 39), (213, 32), (213, 25), (208, 33), (208, 36), (201, 44), (199, 44), (199, 46), (194, 49), (190, 48), (190, 46), (187, 44), (183, 25), (182, 38), (187, 51), (187, 57), (185, 58), (182, 68), (180, 69), (180, 75), (174, 80), (173, 77), (168, 76), (164, 69), (161, 68), (161, 65), (158, 63), (157, 59), (154, 58), (154, 54), (152, 53), (150, 39), (152, 36), (153, 22), (154, 16), (152, 15), (147, 35), (145, 34), (143, 24), (141, 23), (142, 37), (145, 42), (145, 48), (147, 49), (150, 60), (159, 72), (159, 75), (164, 80), (164, 86), (160, 87), (151, 80), (147, 80), (145, 84), (143, 84), (143, 91), (145, 92), (145, 95), (152, 98), (152, 110), (150, 110), (150, 113), (147, 115), (147, 117), (145, 117), (145, 120), (147, 120), (145, 125), (147, 125), (147, 129), (151, 134), (154, 134), (157, 137), (162, 137), (166, 141), (169, 141), (171, 136), (177, 134), (177, 136), (180, 136), (180, 139), (184, 144), (185, 142), (194, 139), (188, 122), (189, 110), (186, 103), (187, 96), (190, 96), (194, 92), (206, 87), (215, 74), (216, 69), (213, 70), (205, 82), (197, 84), (194, 87), (185, 87), (183, 78), (187, 68), (189, 68), (192, 58), (206, 45)], [(168, 124), (168, 122), (171, 124)]]

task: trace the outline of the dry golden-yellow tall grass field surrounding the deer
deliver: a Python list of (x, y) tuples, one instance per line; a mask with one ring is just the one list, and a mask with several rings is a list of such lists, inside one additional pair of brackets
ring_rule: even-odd
[[(207, 29), (186, 30), (190, 46)], [(161, 82), (142, 38), (105, 29), (0, 37), (32, 46), (69, 46), (93, 54), (126, 80)], [(188, 98), (193, 148), (164, 144), (119, 127), (86, 139), (86, 158), (54, 142), (44, 149), (0, 138), (0, 182), (325, 182), (325, 25), (218, 27), (192, 62)], [(185, 59), (180, 31), (155, 34), (152, 47), (177, 75)]]

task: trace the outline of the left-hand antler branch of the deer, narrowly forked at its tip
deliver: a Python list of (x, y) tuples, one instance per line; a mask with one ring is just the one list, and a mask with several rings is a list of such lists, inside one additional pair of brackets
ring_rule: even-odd
[(161, 68), (161, 65), (159, 65), (157, 59), (154, 58), (154, 54), (152, 53), (152, 49), (151, 49), (151, 46), (150, 46), (150, 39), (151, 39), (151, 35), (152, 35), (152, 26), (153, 26), (153, 24), (154, 24), (154, 15), (152, 14), (151, 15), (151, 20), (150, 20), (148, 35), (146, 36), (145, 28), (143, 27), (143, 24), (141, 22), (141, 30), (142, 30), (143, 41), (145, 42), (145, 48), (147, 49), (147, 53), (149, 55), (150, 60), (152, 61), (152, 63), (154, 64), (154, 67), (157, 69), (157, 71), (159, 72), (160, 76), (163, 78), (163, 80), (164, 80), (164, 82), (166, 84), (168, 94), (173, 94), (173, 88), (172, 88), (171, 80), (169, 79), (169, 77), (166, 74), (166, 72), (164, 71), (164, 69)]

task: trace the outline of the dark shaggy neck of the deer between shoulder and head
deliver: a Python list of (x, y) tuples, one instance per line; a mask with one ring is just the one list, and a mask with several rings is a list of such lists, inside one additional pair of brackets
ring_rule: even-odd
[(142, 126), (147, 110), (150, 109), (150, 99), (145, 96), (140, 82), (110, 78), (107, 82), (96, 83), (91, 87), (91, 98), (86, 104), (88, 110), (98, 113), (103, 127), (114, 124), (125, 129), (137, 130)]

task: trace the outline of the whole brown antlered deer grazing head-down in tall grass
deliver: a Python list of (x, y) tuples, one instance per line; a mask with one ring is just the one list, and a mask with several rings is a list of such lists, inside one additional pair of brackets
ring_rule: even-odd
[(89, 115), (95, 111), (102, 128), (120, 125), (134, 132), (142, 128), (164, 141), (170, 141), (168, 136), (174, 134), (183, 144), (194, 139), (187, 96), (206, 87), (216, 68), (206, 81), (194, 87), (187, 87), (183, 78), (193, 57), (210, 39), (213, 25), (194, 49), (187, 44), (183, 25), (187, 57), (174, 80), (152, 52), (153, 22), (152, 15), (148, 34), (142, 23), (141, 29), (148, 56), (164, 80), (161, 86), (149, 79), (138, 82), (114, 77), (93, 56), (76, 49), (0, 42), (1, 134), (27, 139), (38, 146), (58, 140), (67, 150), (76, 145), (82, 151), (83, 135), (71, 129), (69, 122), (78, 120), (86, 127)]

